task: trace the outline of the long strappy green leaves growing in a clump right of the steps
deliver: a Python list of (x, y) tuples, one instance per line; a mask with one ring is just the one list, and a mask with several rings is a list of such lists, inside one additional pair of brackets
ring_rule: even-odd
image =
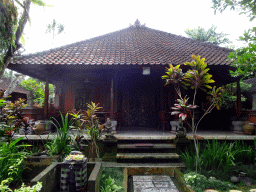
[[(200, 145), (199, 145), (200, 147)], [(207, 141), (200, 149), (200, 165), (204, 170), (222, 170), (230, 172), (232, 168), (241, 164), (253, 164), (256, 158), (256, 141), (254, 147), (243, 141), (228, 143), (217, 140)], [(188, 170), (195, 170), (196, 156), (194, 150), (181, 153), (183, 162)]]

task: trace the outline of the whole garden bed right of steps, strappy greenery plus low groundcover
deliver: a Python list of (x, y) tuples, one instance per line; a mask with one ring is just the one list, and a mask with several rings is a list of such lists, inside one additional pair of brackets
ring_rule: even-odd
[(241, 191), (256, 189), (256, 140), (254, 143), (213, 140), (201, 143), (199, 148), (198, 174), (195, 173), (196, 156), (193, 147), (181, 153), (187, 167), (184, 172), (185, 181), (194, 191), (215, 189), (224, 192), (231, 189)]

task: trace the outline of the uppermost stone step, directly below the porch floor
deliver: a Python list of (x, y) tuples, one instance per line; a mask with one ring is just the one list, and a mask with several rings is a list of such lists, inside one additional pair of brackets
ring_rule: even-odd
[(166, 143), (135, 143), (135, 144), (118, 144), (117, 149), (175, 149), (174, 144)]

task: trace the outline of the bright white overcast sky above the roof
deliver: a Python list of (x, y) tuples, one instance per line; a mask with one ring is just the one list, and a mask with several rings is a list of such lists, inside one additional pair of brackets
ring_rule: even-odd
[[(243, 46), (237, 41), (245, 29), (255, 26), (246, 15), (225, 10), (214, 14), (212, 0), (44, 0), (53, 7), (31, 6), (31, 24), (25, 28), (25, 54), (87, 40), (118, 31), (139, 19), (152, 29), (181, 35), (187, 28), (198, 26), (227, 36), (236, 48)], [(64, 33), (53, 40), (46, 34), (47, 25), (55, 19), (64, 25)]]

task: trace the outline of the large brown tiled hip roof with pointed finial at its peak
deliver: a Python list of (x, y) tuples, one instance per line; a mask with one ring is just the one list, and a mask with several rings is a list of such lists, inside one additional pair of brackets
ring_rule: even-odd
[(11, 64), (177, 65), (191, 61), (195, 54), (208, 65), (229, 65), (226, 60), (231, 51), (135, 22), (120, 31), (16, 58)]

